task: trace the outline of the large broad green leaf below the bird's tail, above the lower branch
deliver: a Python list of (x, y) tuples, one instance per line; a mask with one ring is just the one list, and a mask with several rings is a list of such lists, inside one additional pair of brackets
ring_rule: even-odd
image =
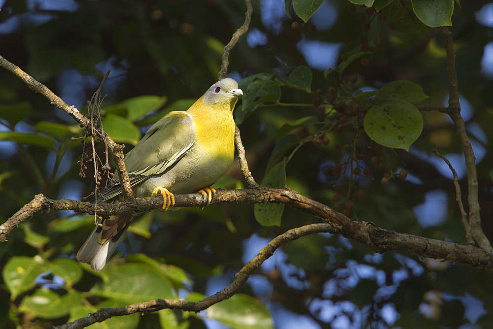
[(96, 293), (124, 304), (176, 297), (168, 278), (161, 271), (147, 264), (115, 265), (102, 273), (104, 284), (96, 290)]

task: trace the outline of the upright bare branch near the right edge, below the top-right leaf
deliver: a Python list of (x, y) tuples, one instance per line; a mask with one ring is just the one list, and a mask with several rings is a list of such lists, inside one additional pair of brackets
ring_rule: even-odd
[(441, 32), (445, 41), (445, 52), (447, 53), (447, 72), (449, 75), (449, 110), (448, 113), (456, 126), (462, 151), (464, 152), (467, 170), (467, 202), (469, 204), (469, 224), (471, 233), (477, 244), (493, 253), (490, 241), (481, 228), (480, 206), (478, 197), (478, 175), (476, 172), (476, 157), (471, 146), (469, 137), (465, 130), (464, 119), (460, 115), (460, 103), (458, 92), (458, 81), (456, 72), (456, 54), (452, 41), (452, 33), (449, 28), (442, 27)]

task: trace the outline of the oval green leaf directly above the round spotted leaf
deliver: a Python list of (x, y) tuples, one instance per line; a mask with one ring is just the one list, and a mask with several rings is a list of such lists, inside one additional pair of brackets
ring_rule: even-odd
[(408, 80), (398, 80), (380, 88), (375, 94), (375, 99), (385, 100), (404, 100), (409, 102), (422, 101), (427, 99), (423, 88), (417, 83)]

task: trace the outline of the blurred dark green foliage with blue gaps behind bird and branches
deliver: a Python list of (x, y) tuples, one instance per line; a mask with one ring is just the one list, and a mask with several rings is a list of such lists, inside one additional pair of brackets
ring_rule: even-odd
[[(394, 2), (409, 9), (410, 1)], [(484, 15), (487, 8), (491, 13), (491, 5), (485, 9), (485, 4), (456, 4), (451, 29), (463, 116), (477, 156), (482, 218), (485, 233), (492, 236), (492, 72), (484, 57), (492, 31), (480, 24), (478, 14)], [(301, 20), (289, 19), (282, 1), (253, 5), (250, 31), (230, 55), (230, 75), (237, 80), (256, 73), (287, 77), (300, 65), (310, 67), (313, 75), (312, 93), (281, 89), (282, 103), (307, 106), (269, 103), (248, 112), (241, 122), (247, 160), (258, 181), (276, 143), (288, 132), (285, 124), (312, 118), (296, 135), (313, 139), (314, 122), (323, 113), (312, 105), (315, 91), (321, 89), (325, 99), (328, 87), (335, 85), (334, 77), (325, 78), (323, 71), (335, 67), (340, 53), (359, 50), (365, 35), (369, 64), (354, 61), (343, 74), (343, 78), (357, 76), (354, 90), (411, 80), (429, 96), (422, 105), (442, 105), (447, 100), (440, 33), (418, 24), (412, 15), (401, 17), (397, 27), (392, 26), (391, 15), (382, 22), (374, 15), (365, 33), (358, 14), (366, 15), (366, 8), (356, 6), (350, 12), (348, 1), (325, 1), (311, 21), (317, 29), (309, 31), (309, 24), (292, 28), (293, 21)], [(0, 11), (0, 54), (79, 109), (111, 68), (103, 91), (105, 129), (116, 142), (127, 143), (129, 150), (145, 127), (170, 110), (186, 109), (216, 80), (222, 47), (243, 23), (244, 13), (240, 0), (7, 0)], [(384, 45), (384, 51), (377, 51), (377, 44)], [(2, 219), (38, 193), (79, 200), (87, 196), (92, 180), (78, 176), (81, 144), (70, 139), (80, 136), (78, 125), (5, 70), (0, 71), (0, 104), (0, 136), (6, 140), (0, 142)], [(443, 113), (422, 114), (423, 133), (410, 153), (379, 151), (371, 141), (357, 145), (364, 157), (361, 163), (371, 169), (374, 179), (358, 178), (365, 196), (354, 200), (351, 214), (389, 230), (465, 243), (451, 175), (430, 155), (431, 148), (438, 148), (453, 160), (465, 189), (454, 127)], [(335, 176), (333, 168), (336, 161), (350, 157), (350, 148), (338, 151), (337, 145), (351, 143), (353, 134), (345, 126), (342, 132), (328, 132), (328, 145), (304, 143), (286, 165), (286, 185), (337, 209), (334, 184), (342, 184), (343, 201), (347, 185), (345, 175)], [(371, 165), (375, 155), (384, 168)], [(388, 170), (403, 168), (408, 179), (380, 183)], [(90, 169), (86, 175), (92, 175)], [(243, 187), (239, 166), (235, 164), (216, 186)], [(231, 282), (269, 238), (316, 221), (286, 208), (281, 226), (262, 227), (255, 221), (253, 206), (247, 204), (145, 213), (131, 227), (120, 256), (94, 273), (73, 261), (92, 230), (91, 217), (65, 212), (38, 216), (0, 245), (0, 326), (46, 327), (101, 307), (153, 298), (179, 295), (199, 300)], [(144, 317), (113, 318), (99, 326), (121, 322), (127, 328), (243, 327), (254, 321), (270, 327), (272, 317), (279, 328), (488, 327), (493, 321), (490, 287), (491, 275), (470, 267), (398, 253), (372, 255), (368, 247), (341, 236), (318, 234), (278, 250), (250, 278), (242, 295), (202, 312), (209, 318), (205, 322), (203, 314), (163, 310)]]

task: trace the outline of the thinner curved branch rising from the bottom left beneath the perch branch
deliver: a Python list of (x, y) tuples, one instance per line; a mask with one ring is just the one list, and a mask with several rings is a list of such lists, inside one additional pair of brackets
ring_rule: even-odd
[(58, 329), (79, 329), (90, 326), (97, 322), (103, 322), (113, 316), (129, 315), (132, 313), (151, 313), (162, 310), (164, 308), (181, 309), (190, 312), (203, 311), (215, 303), (218, 303), (224, 299), (227, 299), (235, 295), (238, 290), (245, 284), (250, 274), (260, 267), (265, 260), (271, 257), (278, 248), (287, 243), (298, 239), (302, 236), (321, 233), (321, 232), (334, 232), (335, 230), (329, 224), (318, 223), (310, 224), (300, 228), (295, 228), (286, 231), (285, 233), (275, 237), (264, 248), (262, 248), (258, 255), (246, 263), (243, 268), (236, 273), (235, 280), (231, 282), (226, 288), (220, 292), (215, 293), (212, 296), (202, 299), (198, 302), (186, 301), (186, 300), (172, 300), (172, 299), (157, 299), (146, 301), (139, 304), (128, 305), (117, 308), (102, 308), (97, 312), (90, 313), (87, 316), (77, 319), (73, 322), (57, 326)]

